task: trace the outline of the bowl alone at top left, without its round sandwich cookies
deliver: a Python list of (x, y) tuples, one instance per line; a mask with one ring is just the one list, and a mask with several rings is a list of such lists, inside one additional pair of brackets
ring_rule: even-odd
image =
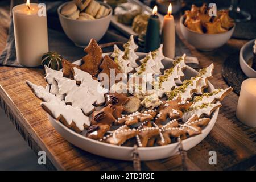
[(95, 19), (95, 20), (77, 20), (68, 18), (60, 13), (61, 8), (66, 5), (66, 2), (58, 7), (58, 14), (60, 19), (61, 27), (63, 28), (65, 34), (71, 39), (76, 46), (85, 47), (90, 42), (90, 39), (93, 38), (97, 42), (104, 36), (108, 30), (110, 19), (112, 16), (112, 7), (106, 3), (101, 3), (111, 9), (108, 16), (104, 18)]

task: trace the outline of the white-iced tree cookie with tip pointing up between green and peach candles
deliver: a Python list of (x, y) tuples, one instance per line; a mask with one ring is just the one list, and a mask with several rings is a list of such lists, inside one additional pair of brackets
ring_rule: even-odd
[(158, 49), (155, 51), (151, 52), (152, 58), (155, 61), (154, 67), (152, 69), (154, 70), (155, 73), (161, 73), (160, 69), (164, 68), (164, 65), (162, 64), (162, 60), (164, 59), (163, 55), (163, 44), (160, 45)]

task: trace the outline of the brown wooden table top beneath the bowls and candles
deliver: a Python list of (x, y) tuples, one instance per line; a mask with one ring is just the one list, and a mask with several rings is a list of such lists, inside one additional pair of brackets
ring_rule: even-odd
[[(0, 51), (3, 50), (8, 30), (8, 9), (1, 11)], [(3, 21), (2, 21), (3, 20)], [(177, 33), (180, 35), (179, 25)], [(182, 39), (182, 38), (181, 38)], [(182, 41), (198, 57), (201, 67), (214, 63), (213, 78), (215, 88), (226, 88), (222, 78), (222, 63), (230, 54), (239, 51), (245, 40), (230, 39), (225, 46), (212, 52), (199, 52)], [(26, 85), (30, 80), (46, 86), (43, 69), (0, 67), (0, 106), (13, 122), (28, 145), (38, 154), (43, 150), (47, 154), (48, 169), (64, 170), (132, 170), (132, 162), (102, 158), (82, 151), (67, 142), (51, 126), (45, 111), (40, 107), (40, 100)], [(256, 129), (243, 125), (236, 118), (238, 95), (230, 93), (218, 114), (218, 119), (210, 134), (197, 146), (188, 151), (189, 169), (220, 170), (249, 169), (256, 164)], [(217, 164), (210, 165), (209, 151), (217, 152)], [(171, 158), (142, 162), (146, 170), (180, 170), (179, 155)]]

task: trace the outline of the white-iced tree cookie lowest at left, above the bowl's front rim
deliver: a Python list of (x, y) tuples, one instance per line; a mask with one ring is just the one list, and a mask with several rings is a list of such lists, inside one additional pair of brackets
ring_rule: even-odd
[(77, 133), (84, 131), (84, 129), (90, 126), (89, 118), (78, 107), (56, 104), (56, 102), (42, 102), (41, 106), (53, 118), (75, 130)]

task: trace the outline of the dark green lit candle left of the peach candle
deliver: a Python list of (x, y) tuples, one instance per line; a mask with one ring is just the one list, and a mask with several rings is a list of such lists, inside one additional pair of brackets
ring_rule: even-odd
[(150, 16), (147, 24), (145, 52), (154, 51), (160, 46), (160, 21), (157, 15), (157, 6), (153, 9), (153, 14)]

